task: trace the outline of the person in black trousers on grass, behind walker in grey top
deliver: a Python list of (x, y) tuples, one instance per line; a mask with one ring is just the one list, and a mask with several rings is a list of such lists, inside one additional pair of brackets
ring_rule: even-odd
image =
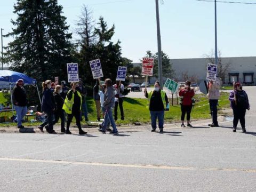
[(121, 119), (124, 120), (124, 108), (123, 108), (123, 92), (124, 92), (124, 85), (120, 81), (116, 81), (114, 85), (115, 88), (115, 121), (117, 118), (117, 108), (119, 104)]

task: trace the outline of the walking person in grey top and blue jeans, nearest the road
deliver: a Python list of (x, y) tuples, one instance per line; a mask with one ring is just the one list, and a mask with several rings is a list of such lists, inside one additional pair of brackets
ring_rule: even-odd
[(110, 134), (118, 134), (118, 131), (116, 129), (116, 123), (113, 118), (113, 107), (115, 105), (115, 89), (112, 86), (112, 81), (110, 78), (107, 78), (105, 80), (106, 90), (104, 93), (104, 102), (103, 107), (105, 108), (105, 116), (104, 116), (104, 122), (103, 125), (100, 127), (99, 131), (102, 133), (106, 133), (106, 129), (108, 126), (108, 122), (110, 121), (111, 126), (113, 127), (113, 131), (110, 132)]

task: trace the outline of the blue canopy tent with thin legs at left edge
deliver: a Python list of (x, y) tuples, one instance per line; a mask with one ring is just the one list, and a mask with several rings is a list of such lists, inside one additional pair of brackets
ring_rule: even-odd
[[(10, 89), (11, 101), (12, 101), (12, 88), (15, 86), (18, 79), (23, 79), (25, 85), (33, 85), (37, 89), (39, 101), (41, 103), (40, 94), (36, 84), (36, 79), (30, 78), (25, 74), (11, 71), (11, 70), (0, 70), (0, 89)], [(12, 101), (13, 111), (13, 101)]]

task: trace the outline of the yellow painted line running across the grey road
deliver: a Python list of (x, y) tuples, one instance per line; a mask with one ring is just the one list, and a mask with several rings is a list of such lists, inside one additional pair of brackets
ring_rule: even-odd
[(162, 169), (162, 170), (186, 170), (186, 171), (196, 171), (196, 170), (240, 171), (240, 172), (255, 172), (256, 173), (256, 170), (250, 170), (250, 169), (229, 169), (229, 168), (214, 168), (214, 167), (185, 167), (185, 166), (167, 166), (167, 165), (137, 165), (137, 164), (119, 164), (119, 163), (86, 163), (86, 162), (73, 162), (73, 161), (44, 160), (44, 159), (22, 159), (22, 158), (1, 158), (0, 157), (0, 161), (128, 167), (128, 168), (138, 168), (138, 169)]

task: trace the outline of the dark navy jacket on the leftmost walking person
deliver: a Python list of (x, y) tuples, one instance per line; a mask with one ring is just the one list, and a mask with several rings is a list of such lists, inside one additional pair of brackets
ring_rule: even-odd
[(46, 88), (43, 92), (42, 111), (50, 113), (56, 108), (55, 99), (51, 89)]

